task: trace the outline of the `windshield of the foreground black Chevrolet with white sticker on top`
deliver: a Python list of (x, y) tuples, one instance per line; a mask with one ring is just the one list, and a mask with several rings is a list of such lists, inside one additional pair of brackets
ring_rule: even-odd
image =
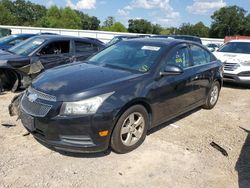
[(99, 52), (88, 63), (144, 73), (150, 70), (161, 52), (160, 46), (122, 42)]

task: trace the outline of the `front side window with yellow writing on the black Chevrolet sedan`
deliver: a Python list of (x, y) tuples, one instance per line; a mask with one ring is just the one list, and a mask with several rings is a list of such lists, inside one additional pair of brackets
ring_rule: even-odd
[(188, 68), (191, 66), (189, 60), (188, 48), (183, 47), (171, 52), (166, 60), (166, 64), (177, 65), (181, 68)]

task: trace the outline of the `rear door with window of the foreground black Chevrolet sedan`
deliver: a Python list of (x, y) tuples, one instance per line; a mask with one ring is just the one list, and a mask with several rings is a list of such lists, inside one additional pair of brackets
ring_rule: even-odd
[(206, 98), (217, 71), (216, 59), (211, 53), (195, 44), (190, 45), (191, 59), (195, 72), (193, 78), (194, 99), (202, 101)]

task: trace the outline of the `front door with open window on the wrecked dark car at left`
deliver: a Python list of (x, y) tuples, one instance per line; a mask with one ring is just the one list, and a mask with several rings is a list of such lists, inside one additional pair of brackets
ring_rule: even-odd
[(52, 41), (39, 52), (39, 60), (45, 69), (71, 62), (70, 40)]

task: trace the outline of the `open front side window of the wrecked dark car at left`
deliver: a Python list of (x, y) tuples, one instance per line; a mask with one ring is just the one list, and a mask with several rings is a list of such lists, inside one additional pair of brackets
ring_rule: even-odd
[(41, 55), (69, 53), (70, 41), (56, 41), (47, 44), (41, 51)]

